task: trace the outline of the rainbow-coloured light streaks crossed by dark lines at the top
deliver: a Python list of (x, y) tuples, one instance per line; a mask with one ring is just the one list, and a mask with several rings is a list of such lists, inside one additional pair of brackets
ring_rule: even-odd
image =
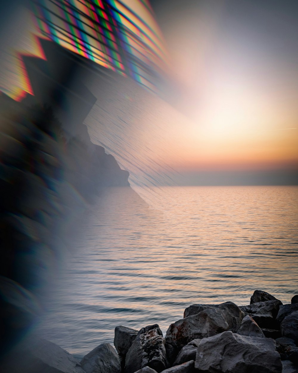
[(38, 34), (156, 91), (166, 54), (148, 1), (34, 0), (32, 7)]

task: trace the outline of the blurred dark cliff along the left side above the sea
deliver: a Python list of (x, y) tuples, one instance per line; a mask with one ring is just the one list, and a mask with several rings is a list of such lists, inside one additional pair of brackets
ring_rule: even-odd
[(34, 95), (0, 95), (4, 352), (41, 313), (65, 232), (104, 188), (129, 186), (129, 173), (83, 125), (96, 98), (81, 83), (79, 59), (48, 41), (42, 47), (47, 60), (23, 57)]

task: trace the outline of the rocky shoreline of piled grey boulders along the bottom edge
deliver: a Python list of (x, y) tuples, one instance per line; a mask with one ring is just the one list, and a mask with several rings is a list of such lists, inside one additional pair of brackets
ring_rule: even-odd
[(117, 352), (104, 343), (81, 361), (52, 342), (27, 340), (7, 358), (3, 372), (297, 373), (297, 345), (298, 296), (282, 304), (256, 290), (245, 306), (190, 305), (165, 337), (157, 324), (117, 326)]

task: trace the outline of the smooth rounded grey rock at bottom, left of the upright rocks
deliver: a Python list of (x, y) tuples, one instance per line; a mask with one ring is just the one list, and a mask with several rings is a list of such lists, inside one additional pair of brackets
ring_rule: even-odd
[(109, 343), (95, 347), (81, 360), (86, 373), (121, 373), (120, 358)]

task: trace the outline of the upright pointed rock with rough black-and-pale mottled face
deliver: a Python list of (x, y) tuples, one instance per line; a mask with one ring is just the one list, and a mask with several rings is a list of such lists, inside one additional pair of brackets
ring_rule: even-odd
[(134, 373), (146, 366), (161, 372), (168, 365), (165, 339), (157, 324), (143, 327), (134, 339), (125, 359), (125, 373)]

